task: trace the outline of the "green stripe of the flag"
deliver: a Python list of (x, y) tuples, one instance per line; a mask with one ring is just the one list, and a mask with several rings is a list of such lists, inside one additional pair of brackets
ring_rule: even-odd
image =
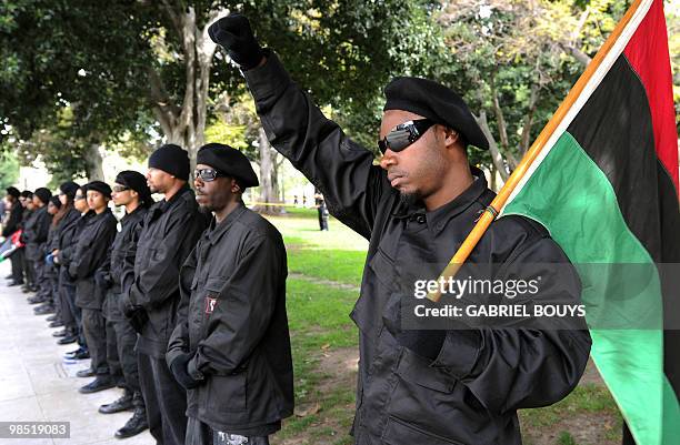
[[(638, 445), (680, 437), (680, 408), (663, 374), (659, 275), (626, 225), (604, 173), (564, 132), (502, 214), (542, 223), (574, 263), (591, 326), (591, 355)], [(641, 280), (639, 273), (622, 273), (620, 264), (653, 272)]]

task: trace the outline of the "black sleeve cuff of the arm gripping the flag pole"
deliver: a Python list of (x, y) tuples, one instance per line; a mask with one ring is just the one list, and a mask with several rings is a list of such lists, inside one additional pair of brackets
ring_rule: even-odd
[(439, 355), (430, 366), (444, 368), (462, 380), (476, 373), (484, 341), (479, 330), (458, 330), (447, 333)]

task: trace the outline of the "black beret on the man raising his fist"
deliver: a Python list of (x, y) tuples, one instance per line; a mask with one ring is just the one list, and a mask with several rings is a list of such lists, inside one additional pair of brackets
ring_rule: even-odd
[(394, 78), (386, 88), (387, 110), (420, 114), (451, 128), (478, 149), (488, 150), (489, 142), (462, 98), (449, 88), (421, 78)]

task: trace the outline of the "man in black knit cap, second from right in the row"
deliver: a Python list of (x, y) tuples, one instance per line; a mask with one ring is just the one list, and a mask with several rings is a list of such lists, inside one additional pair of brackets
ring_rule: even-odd
[(206, 229), (189, 180), (189, 155), (167, 144), (149, 158), (147, 182), (164, 199), (149, 209), (137, 244), (134, 281), (123, 295), (124, 314), (140, 332), (139, 377), (151, 435), (159, 444), (183, 444), (187, 392), (172, 376), (166, 351), (177, 323), (179, 270)]

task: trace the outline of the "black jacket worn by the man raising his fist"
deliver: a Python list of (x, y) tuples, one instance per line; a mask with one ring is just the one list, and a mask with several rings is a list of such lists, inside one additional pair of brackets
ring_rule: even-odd
[[(578, 383), (587, 331), (449, 331), (436, 360), (401, 346), (396, 323), (401, 271), (448, 262), (493, 198), (483, 175), (433, 212), (406, 208), (373, 155), (326, 119), (271, 53), (244, 72), (272, 145), (317, 185), (329, 211), (370, 241), (361, 295), (351, 313), (360, 365), (353, 434), (358, 444), (520, 444), (517, 409), (552, 404)], [(580, 281), (561, 249), (524, 218), (493, 222), (469, 263), (564, 263), (560, 300), (580, 301)], [(546, 276), (551, 282), (556, 276)], [(553, 294), (541, 295), (550, 300)], [(584, 325), (581, 325), (584, 327)]]

